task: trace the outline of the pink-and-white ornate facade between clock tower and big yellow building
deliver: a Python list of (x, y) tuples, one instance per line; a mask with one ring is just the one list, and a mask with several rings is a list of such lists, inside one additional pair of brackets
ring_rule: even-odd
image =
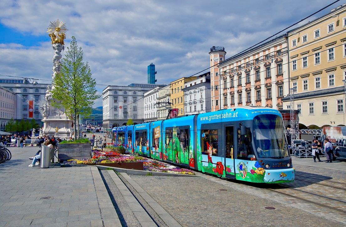
[(223, 61), (218, 65), (216, 104), (221, 109), (249, 105), (282, 109), (281, 99), (289, 92), (287, 62), (286, 34)]

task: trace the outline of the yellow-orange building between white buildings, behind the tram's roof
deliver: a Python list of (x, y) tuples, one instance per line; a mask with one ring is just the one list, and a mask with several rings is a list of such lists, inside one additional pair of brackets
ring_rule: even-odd
[[(178, 116), (184, 115), (184, 83), (195, 80), (197, 77), (183, 77), (171, 82), (171, 102), (172, 108), (178, 109)], [(186, 113), (189, 114), (189, 113)]]

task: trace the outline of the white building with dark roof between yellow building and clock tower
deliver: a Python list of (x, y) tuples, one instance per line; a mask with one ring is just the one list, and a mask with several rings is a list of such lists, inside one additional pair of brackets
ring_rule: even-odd
[(184, 83), (183, 91), (185, 115), (211, 111), (210, 72)]

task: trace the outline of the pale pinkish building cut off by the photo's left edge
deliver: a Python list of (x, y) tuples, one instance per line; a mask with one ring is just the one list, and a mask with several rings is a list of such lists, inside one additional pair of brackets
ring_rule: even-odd
[(4, 131), (7, 122), (16, 118), (16, 93), (0, 86), (0, 130)]

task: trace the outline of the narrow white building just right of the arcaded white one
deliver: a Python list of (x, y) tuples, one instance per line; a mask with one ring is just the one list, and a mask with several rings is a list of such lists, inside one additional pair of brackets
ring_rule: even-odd
[[(144, 93), (144, 122), (156, 121), (158, 118), (157, 105), (158, 93), (163, 89), (162, 86), (157, 86)], [(168, 88), (170, 91), (170, 88)]]

